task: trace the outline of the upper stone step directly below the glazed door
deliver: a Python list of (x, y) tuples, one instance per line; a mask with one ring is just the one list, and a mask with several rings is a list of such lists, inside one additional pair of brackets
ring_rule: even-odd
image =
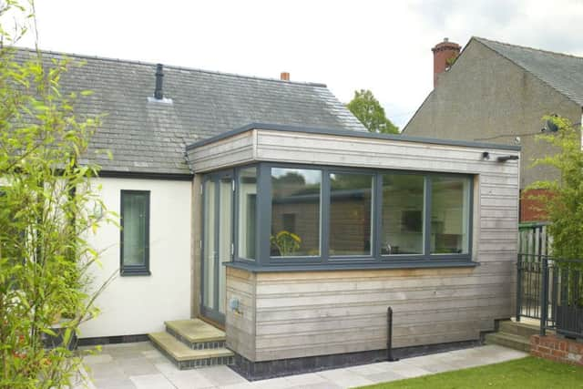
[(225, 332), (200, 319), (164, 322), (166, 331), (193, 350), (225, 347)]

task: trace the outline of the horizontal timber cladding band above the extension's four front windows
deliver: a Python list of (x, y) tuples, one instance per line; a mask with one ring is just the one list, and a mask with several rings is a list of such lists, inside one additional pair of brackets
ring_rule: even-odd
[[(517, 161), (496, 162), (517, 151), (430, 145), (374, 138), (338, 138), (330, 135), (257, 130), (255, 159), (335, 166), (484, 173), (486, 182), (506, 177), (517, 183)], [(490, 159), (482, 158), (488, 151)], [(496, 182), (497, 183), (497, 182)]]

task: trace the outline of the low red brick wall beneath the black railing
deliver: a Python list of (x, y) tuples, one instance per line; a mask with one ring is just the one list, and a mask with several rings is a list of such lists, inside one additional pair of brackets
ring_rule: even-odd
[(583, 366), (583, 343), (555, 335), (532, 335), (530, 354), (550, 361)]

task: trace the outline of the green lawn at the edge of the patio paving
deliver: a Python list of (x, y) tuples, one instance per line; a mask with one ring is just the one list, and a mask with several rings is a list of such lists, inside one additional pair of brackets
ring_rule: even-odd
[(583, 367), (527, 356), (514, 361), (425, 375), (367, 389), (583, 388)]

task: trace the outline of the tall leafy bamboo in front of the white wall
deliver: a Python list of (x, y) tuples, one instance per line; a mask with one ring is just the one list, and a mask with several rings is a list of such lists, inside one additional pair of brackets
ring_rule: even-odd
[[(6, 1), (0, 22), (33, 11)], [(99, 118), (75, 115), (88, 92), (59, 87), (77, 64), (16, 50), (25, 33), (0, 28), (0, 388), (62, 388), (81, 363), (70, 342), (97, 314), (87, 234), (110, 214), (91, 185), (98, 167), (80, 163)]]

